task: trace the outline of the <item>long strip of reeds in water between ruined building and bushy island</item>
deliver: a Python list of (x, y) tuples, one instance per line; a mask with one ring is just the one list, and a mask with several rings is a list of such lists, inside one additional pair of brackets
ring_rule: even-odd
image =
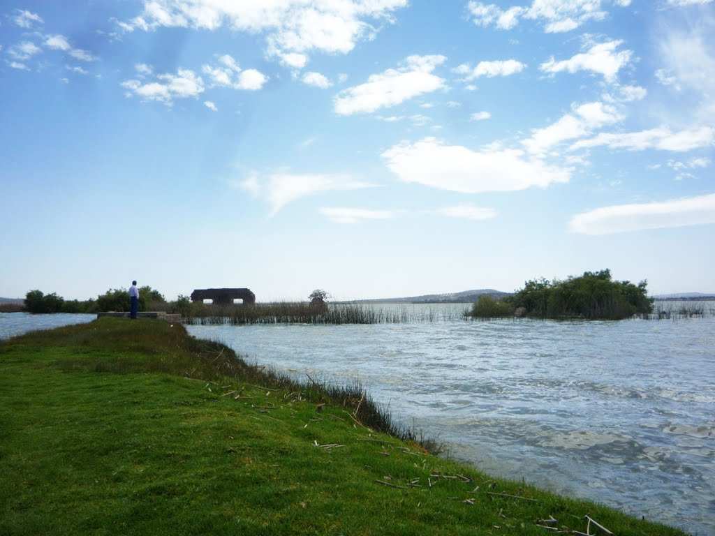
[(310, 305), (278, 302), (242, 305), (203, 305), (187, 320), (199, 325), (245, 324), (403, 324), (407, 322), (453, 322), (464, 319), (457, 309), (392, 307), (378, 309), (365, 304)]

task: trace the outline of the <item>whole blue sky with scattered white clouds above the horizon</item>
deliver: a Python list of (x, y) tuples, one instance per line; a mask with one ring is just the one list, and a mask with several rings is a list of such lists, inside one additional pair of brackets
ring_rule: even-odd
[(715, 293), (713, 0), (0, 6), (0, 296)]

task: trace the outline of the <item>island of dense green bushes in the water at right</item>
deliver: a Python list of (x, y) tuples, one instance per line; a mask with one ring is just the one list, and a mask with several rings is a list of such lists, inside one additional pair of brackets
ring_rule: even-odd
[(647, 281), (633, 284), (613, 281), (611, 270), (584, 272), (563, 281), (534, 279), (523, 289), (495, 299), (482, 296), (473, 305), (476, 318), (536, 317), (553, 319), (618, 320), (634, 314), (650, 314), (653, 299), (648, 297)]

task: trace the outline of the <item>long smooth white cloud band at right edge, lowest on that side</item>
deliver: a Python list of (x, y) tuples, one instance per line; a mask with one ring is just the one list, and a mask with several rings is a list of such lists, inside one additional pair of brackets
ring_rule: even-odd
[(576, 214), (571, 232), (613, 234), (715, 223), (715, 194), (665, 202), (622, 204)]

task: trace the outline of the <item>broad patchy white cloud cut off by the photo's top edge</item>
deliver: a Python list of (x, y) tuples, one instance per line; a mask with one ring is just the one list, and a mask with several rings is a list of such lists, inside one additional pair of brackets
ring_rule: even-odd
[(264, 34), (267, 52), (286, 64), (302, 68), (311, 51), (346, 54), (376, 33), (371, 21), (391, 21), (408, 0), (143, 0), (143, 10), (125, 31), (160, 26)]

